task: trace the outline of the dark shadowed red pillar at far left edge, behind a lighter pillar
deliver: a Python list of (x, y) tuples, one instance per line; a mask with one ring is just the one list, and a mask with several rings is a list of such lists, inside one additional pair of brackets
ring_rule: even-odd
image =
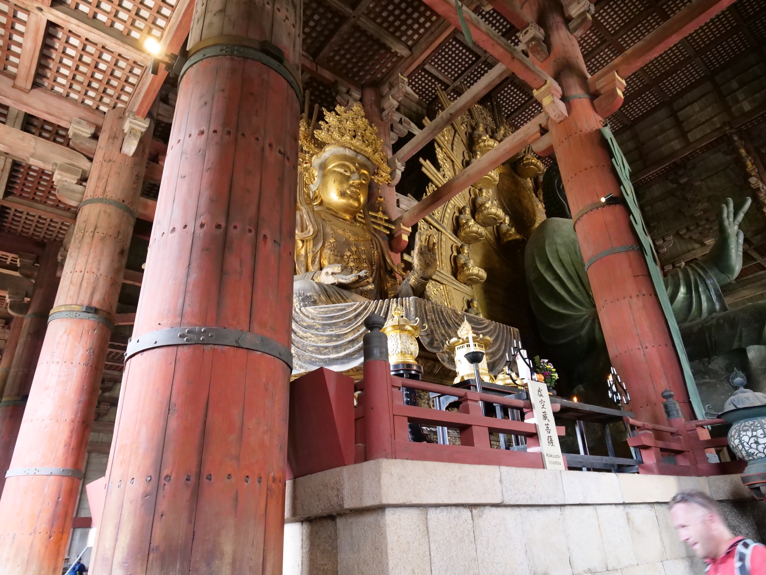
[(58, 289), (58, 251), (61, 241), (51, 241), (45, 245), (40, 258), (37, 278), (34, 281), (29, 311), (24, 317), (18, 345), (8, 373), (5, 392), (0, 401), (0, 494), (5, 486), (5, 472), (11, 465), (11, 455), (24, 416), (29, 389), (32, 386), (34, 368), (38, 364), (40, 350), (43, 347), (48, 313), (53, 307)]

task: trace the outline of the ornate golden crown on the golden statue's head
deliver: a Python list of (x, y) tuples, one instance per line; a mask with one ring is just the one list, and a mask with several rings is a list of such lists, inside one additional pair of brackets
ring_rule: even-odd
[(388, 157), (383, 152), (383, 140), (378, 137), (378, 129), (371, 126), (365, 117), (362, 104), (357, 102), (351, 110), (337, 106), (335, 112), (324, 110), (324, 113), (325, 121), (319, 122), (321, 129), (315, 130), (313, 134), (316, 140), (327, 146), (353, 149), (369, 158), (378, 166), (372, 179), (379, 184), (391, 183), (391, 168), (388, 167)]

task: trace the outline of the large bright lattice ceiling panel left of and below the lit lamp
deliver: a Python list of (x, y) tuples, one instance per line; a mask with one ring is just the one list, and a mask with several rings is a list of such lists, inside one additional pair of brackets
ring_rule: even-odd
[(34, 84), (106, 112), (127, 104), (143, 65), (48, 22)]

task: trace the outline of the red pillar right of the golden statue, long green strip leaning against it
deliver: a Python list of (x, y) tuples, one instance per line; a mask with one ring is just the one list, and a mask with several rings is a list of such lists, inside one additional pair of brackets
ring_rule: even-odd
[(672, 389), (686, 419), (694, 419), (627, 207), (599, 202), (604, 195), (621, 192), (607, 142), (598, 131), (603, 120), (588, 96), (588, 72), (578, 41), (569, 33), (561, 2), (542, 0), (540, 8), (551, 48), (546, 71), (561, 84), (569, 112), (561, 123), (548, 122), (569, 207), (576, 216), (586, 206), (601, 206), (581, 215), (575, 229), (583, 261), (590, 264), (588, 279), (612, 365), (629, 386), (630, 409), (637, 419), (666, 421), (660, 397), (664, 389)]

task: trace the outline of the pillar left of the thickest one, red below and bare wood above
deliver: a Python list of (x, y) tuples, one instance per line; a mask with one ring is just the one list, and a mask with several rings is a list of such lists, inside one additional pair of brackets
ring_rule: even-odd
[(124, 113), (106, 113), (0, 498), (3, 575), (63, 565), (151, 139), (120, 153)]

